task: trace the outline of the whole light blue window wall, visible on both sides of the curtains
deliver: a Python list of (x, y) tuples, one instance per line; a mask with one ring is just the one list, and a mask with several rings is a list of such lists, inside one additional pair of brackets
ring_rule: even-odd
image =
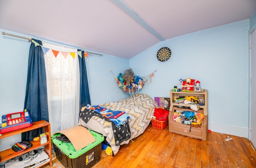
[[(30, 44), (26, 39), (2, 35), (2, 32), (30, 37), (42, 41), (38, 37), (24, 35), (5, 29), (0, 29), (0, 117), (7, 113), (23, 111), (26, 92), (26, 80), (28, 69), (28, 53)], [(54, 43), (63, 45), (61, 43)], [(64, 45), (67, 47), (72, 47)], [(72, 47), (77, 48), (77, 47)], [(86, 50), (86, 49), (84, 49)], [(92, 51), (93, 52), (93, 51)], [(103, 54), (88, 56), (86, 68), (89, 81), (91, 104), (97, 105), (111, 101), (117, 101), (128, 97), (117, 87), (114, 76), (109, 72), (111, 69), (116, 75), (129, 68), (129, 60)], [(2, 122), (0, 122), (2, 123)], [(8, 137), (0, 140), (0, 151), (10, 148), (20, 141), (21, 135)]]

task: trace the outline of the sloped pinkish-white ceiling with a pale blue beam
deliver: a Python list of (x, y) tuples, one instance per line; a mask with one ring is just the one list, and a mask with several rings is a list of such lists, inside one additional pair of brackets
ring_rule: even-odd
[(130, 59), (254, 12), (256, 0), (0, 0), (0, 28)]

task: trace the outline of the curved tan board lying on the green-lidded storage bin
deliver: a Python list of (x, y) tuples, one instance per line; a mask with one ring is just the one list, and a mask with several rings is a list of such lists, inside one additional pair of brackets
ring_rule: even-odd
[[(62, 133), (68, 137), (76, 151), (86, 147), (90, 143), (94, 143), (96, 140), (93, 135), (83, 126), (77, 125), (56, 133)], [(54, 134), (56, 134), (54, 133)]]

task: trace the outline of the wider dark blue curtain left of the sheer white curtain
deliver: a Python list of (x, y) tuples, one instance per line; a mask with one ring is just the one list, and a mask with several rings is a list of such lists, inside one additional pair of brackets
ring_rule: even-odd
[[(42, 41), (33, 40), (42, 45)], [(40, 120), (49, 121), (44, 52), (41, 46), (36, 47), (34, 43), (30, 45), (28, 56), (28, 76), (24, 109), (29, 111), (33, 122)], [(40, 133), (40, 129), (22, 133), (22, 141), (32, 141)]]

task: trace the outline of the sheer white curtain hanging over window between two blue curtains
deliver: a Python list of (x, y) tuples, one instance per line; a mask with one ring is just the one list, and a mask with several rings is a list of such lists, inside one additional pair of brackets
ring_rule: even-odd
[(77, 52), (76, 49), (42, 43), (45, 48), (60, 51), (56, 57), (51, 50), (44, 55), (49, 122), (51, 134), (53, 134), (78, 124), (80, 112), (79, 56), (77, 53), (74, 58), (70, 55), (70, 52)]

